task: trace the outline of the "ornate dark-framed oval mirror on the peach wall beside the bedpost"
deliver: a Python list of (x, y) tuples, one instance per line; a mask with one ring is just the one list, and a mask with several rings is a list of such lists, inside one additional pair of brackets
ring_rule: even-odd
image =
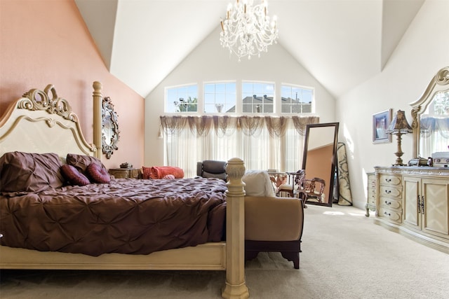
[(102, 147), (106, 158), (111, 158), (119, 143), (119, 122), (117, 113), (110, 97), (105, 97), (102, 102)]

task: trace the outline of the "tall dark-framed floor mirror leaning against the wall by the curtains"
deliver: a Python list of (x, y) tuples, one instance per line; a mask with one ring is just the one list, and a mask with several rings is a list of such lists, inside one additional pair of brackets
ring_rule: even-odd
[(302, 169), (305, 202), (332, 207), (339, 123), (307, 125)]

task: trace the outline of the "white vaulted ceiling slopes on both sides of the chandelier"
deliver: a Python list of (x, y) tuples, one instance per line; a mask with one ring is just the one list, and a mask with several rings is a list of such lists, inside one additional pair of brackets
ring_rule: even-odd
[[(111, 74), (142, 97), (220, 26), (229, 3), (75, 2)], [(338, 97), (382, 70), (423, 3), (424, 0), (268, 0), (268, 8), (269, 15), (278, 18), (279, 44)]]

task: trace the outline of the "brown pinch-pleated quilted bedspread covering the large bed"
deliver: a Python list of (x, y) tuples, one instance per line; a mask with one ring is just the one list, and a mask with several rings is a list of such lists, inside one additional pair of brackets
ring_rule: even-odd
[(219, 242), (225, 181), (115, 179), (0, 195), (1, 244), (99, 256)]

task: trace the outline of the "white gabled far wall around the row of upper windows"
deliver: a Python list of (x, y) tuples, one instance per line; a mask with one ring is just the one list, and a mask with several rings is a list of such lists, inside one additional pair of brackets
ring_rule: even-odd
[(163, 115), (164, 88), (198, 83), (199, 100), (202, 100), (203, 82), (222, 80), (236, 80), (237, 83), (242, 80), (274, 82), (278, 97), (281, 83), (314, 87), (316, 115), (320, 116), (321, 123), (335, 122), (335, 99), (282, 46), (275, 44), (260, 58), (253, 57), (250, 61), (243, 58), (238, 62), (235, 55), (229, 57), (229, 51), (220, 46), (220, 26), (218, 26), (145, 99), (145, 165), (163, 163), (163, 139), (158, 138), (158, 132), (159, 116)]

